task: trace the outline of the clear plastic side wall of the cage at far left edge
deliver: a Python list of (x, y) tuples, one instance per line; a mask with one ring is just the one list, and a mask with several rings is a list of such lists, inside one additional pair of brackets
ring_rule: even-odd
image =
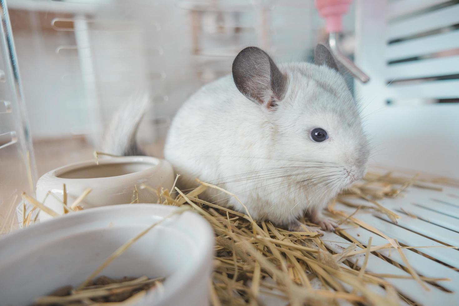
[(0, 234), (17, 228), (21, 193), (33, 194), (34, 151), (6, 3), (0, 1)]

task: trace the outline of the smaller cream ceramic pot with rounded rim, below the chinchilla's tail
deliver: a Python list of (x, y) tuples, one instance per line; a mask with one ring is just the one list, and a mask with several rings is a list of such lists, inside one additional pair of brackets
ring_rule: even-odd
[[(39, 178), (37, 200), (43, 202), (48, 191), (62, 200), (63, 184), (66, 185), (69, 206), (87, 188), (92, 191), (80, 204), (84, 209), (131, 203), (135, 188), (138, 190), (139, 203), (156, 203), (156, 194), (140, 189), (140, 185), (170, 189), (174, 184), (174, 171), (168, 161), (150, 156), (104, 158), (99, 159), (99, 165), (94, 160), (77, 162), (52, 170)], [(64, 212), (62, 203), (53, 196), (48, 196), (44, 204), (60, 215)], [(51, 217), (40, 211), (39, 218), (44, 221)]]

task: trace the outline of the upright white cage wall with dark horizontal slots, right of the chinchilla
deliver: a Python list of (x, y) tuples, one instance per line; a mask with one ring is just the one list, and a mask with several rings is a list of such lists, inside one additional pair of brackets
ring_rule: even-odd
[(459, 0), (355, 4), (355, 61), (371, 78), (355, 95), (371, 162), (459, 178)]

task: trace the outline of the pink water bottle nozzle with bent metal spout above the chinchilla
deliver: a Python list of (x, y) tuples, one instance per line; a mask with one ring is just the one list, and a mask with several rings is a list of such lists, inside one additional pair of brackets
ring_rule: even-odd
[(351, 0), (315, 0), (315, 6), (322, 17), (325, 18), (326, 30), (329, 33), (330, 50), (335, 59), (351, 73), (354, 78), (358, 78), (362, 83), (369, 81), (369, 76), (358, 68), (340, 50), (339, 34), (342, 31), (342, 15), (347, 13)]

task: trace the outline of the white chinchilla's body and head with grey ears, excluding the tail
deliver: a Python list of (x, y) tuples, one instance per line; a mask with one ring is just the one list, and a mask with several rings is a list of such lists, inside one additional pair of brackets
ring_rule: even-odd
[[(232, 75), (192, 95), (174, 117), (164, 150), (181, 175), (179, 188), (194, 188), (199, 178), (237, 195), (256, 220), (301, 230), (298, 218), (307, 212), (333, 230), (322, 209), (363, 177), (369, 147), (358, 105), (323, 45), (315, 62), (276, 66), (248, 47)], [(314, 128), (328, 139), (313, 141)], [(217, 189), (204, 196), (246, 212)]]

